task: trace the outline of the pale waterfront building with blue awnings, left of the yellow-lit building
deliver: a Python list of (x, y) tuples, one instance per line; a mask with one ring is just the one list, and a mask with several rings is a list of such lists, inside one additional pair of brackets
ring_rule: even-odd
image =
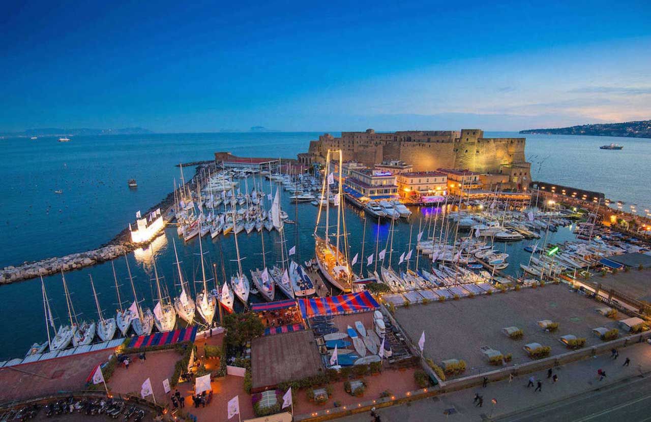
[(355, 198), (381, 200), (398, 198), (396, 176), (391, 172), (381, 172), (370, 168), (354, 168), (344, 181), (346, 192)]

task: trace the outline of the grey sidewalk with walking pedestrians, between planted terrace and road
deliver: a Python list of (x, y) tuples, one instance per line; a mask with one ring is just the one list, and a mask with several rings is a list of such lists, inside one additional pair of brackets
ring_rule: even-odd
[[(516, 376), (511, 383), (508, 380), (493, 382), (489, 383), (486, 388), (477, 387), (454, 391), (433, 399), (383, 408), (378, 410), (378, 413), (383, 422), (432, 421), (443, 419), (446, 412), (449, 412), (449, 419), (454, 418), (458, 421), (481, 421), (491, 416), (493, 419), (497, 419), (651, 371), (651, 345), (636, 344), (622, 348), (619, 352), (619, 357), (616, 360), (612, 360), (610, 354), (607, 353), (596, 358), (556, 367), (553, 369), (553, 372), (559, 376), (556, 384), (553, 384), (551, 378), (547, 379), (547, 371), (540, 371)], [(622, 367), (627, 357), (631, 359), (630, 366)], [(607, 375), (602, 381), (598, 380), (598, 369), (603, 369)], [(534, 387), (527, 388), (530, 376), (534, 376), (536, 381), (542, 380), (542, 391), (534, 392)], [(484, 397), (484, 404), (481, 408), (476, 407), (473, 403), (475, 393)], [(492, 399), (495, 399), (497, 404), (493, 405)], [(440, 417), (437, 417), (438, 415)], [(357, 414), (340, 420), (368, 422), (369, 415), (368, 413)]]

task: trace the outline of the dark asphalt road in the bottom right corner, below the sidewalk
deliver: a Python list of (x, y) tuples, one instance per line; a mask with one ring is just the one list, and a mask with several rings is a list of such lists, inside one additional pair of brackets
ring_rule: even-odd
[[(596, 384), (598, 381), (594, 381)], [(648, 402), (651, 378), (631, 378), (598, 391), (540, 406), (495, 422), (537, 421), (651, 421)]]

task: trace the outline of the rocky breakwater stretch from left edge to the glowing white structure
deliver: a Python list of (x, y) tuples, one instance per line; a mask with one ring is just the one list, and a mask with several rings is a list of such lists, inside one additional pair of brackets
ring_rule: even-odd
[(104, 248), (81, 252), (79, 254), (70, 254), (64, 257), (54, 257), (43, 259), (32, 263), (24, 263), (20, 267), (5, 267), (0, 270), (0, 283), (7, 284), (20, 282), (38, 276), (48, 276), (55, 272), (75, 270), (82, 267), (89, 267), (96, 263), (110, 261), (118, 256), (128, 252), (126, 246), (114, 244)]

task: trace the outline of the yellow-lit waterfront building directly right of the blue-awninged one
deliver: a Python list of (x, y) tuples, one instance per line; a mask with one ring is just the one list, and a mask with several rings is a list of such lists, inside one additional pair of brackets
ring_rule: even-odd
[(396, 183), (407, 202), (440, 202), (447, 194), (447, 174), (441, 172), (400, 173)]

